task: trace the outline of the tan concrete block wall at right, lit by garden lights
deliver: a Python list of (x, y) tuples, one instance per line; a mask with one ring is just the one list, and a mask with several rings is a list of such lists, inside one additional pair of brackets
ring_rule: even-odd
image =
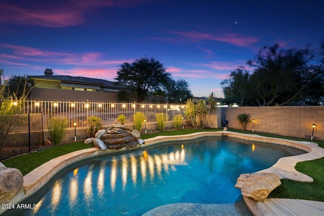
[[(219, 109), (221, 118), (229, 121), (229, 127), (241, 129), (235, 119), (239, 113), (249, 113), (255, 119), (254, 131), (278, 134), (288, 137), (310, 139), (312, 124), (315, 140), (324, 140), (324, 106), (283, 106), (283, 107), (226, 107)], [(221, 123), (222, 119), (218, 119)], [(252, 131), (252, 121), (247, 130)]]

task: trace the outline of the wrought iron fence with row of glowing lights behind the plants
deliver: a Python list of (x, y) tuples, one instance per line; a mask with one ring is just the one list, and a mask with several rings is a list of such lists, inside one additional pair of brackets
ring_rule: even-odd
[[(128, 123), (133, 122), (136, 112), (145, 114), (146, 122), (155, 122), (155, 113), (165, 113), (172, 120), (174, 115), (184, 115), (183, 104), (169, 103), (131, 103), (131, 102), (105, 102), (105, 101), (43, 101), (26, 100), (24, 102), (12, 102), (17, 106), (21, 114), (43, 113), (44, 127), (47, 129), (47, 119), (61, 116), (68, 119), (68, 127), (87, 127), (87, 117), (100, 117), (104, 126), (115, 122), (116, 118), (123, 114)], [(42, 122), (40, 122), (42, 123)]]

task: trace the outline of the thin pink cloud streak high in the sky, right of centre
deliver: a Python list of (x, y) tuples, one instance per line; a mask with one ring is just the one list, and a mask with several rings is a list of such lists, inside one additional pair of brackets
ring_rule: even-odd
[(236, 45), (239, 47), (248, 47), (251, 44), (255, 44), (259, 41), (258, 38), (252, 36), (243, 36), (235, 33), (230, 34), (207, 34), (207, 33), (199, 33), (196, 31), (189, 32), (178, 32), (172, 31), (170, 33), (181, 35), (188, 40), (200, 42), (201, 40), (216, 40), (220, 42), (227, 42), (232, 45)]

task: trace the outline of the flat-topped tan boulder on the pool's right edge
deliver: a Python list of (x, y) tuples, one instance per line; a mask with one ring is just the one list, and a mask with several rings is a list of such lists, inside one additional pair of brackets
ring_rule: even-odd
[(257, 172), (255, 174), (241, 174), (237, 179), (235, 188), (240, 188), (244, 197), (263, 200), (279, 185), (281, 185), (281, 182), (278, 175)]

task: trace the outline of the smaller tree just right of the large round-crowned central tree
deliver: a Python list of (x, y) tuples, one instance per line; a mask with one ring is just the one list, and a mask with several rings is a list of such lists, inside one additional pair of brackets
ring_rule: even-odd
[(165, 89), (169, 103), (183, 103), (193, 97), (189, 84), (184, 79), (178, 79), (177, 81), (170, 79)]

